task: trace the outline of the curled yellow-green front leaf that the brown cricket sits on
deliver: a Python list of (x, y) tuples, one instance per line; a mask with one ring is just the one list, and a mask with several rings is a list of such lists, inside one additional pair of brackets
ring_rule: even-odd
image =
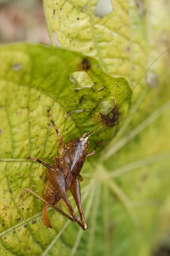
[[(79, 90), (70, 79), (75, 72), (88, 76), (86, 86)], [(1, 255), (48, 255), (48, 251), (68, 255), (79, 230), (77, 224), (70, 224), (51, 209), (53, 229), (47, 228), (42, 222), (42, 202), (33, 195), (25, 194), (19, 204), (23, 189), (29, 187), (43, 196), (46, 182), (45, 168), (26, 157), (52, 163), (58, 154), (57, 134), (47, 116), (49, 106), (66, 142), (103, 122), (103, 100), (112, 99), (120, 105), (126, 99), (119, 111), (121, 118), (130, 98), (131, 88), (125, 79), (106, 75), (95, 60), (79, 53), (28, 44), (0, 47)], [(110, 126), (91, 137), (91, 148), (96, 140), (111, 139), (113, 130)], [(87, 161), (84, 171), (94, 169)], [(96, 184), (94, 179), (83, 183), (82, 201), (88, 218)]]

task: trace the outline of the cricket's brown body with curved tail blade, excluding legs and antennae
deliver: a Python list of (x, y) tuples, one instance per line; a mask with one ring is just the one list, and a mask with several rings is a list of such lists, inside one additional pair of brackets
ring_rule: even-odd
[[(65, 192), (71, 188), (71, 185), (75, 182), (82, 169), (85, 162), (85, 157), (87, 155), (88, 145), (88, 137), (70, 140), (63, 147), (63, 155), (60, 157), (54, 157), (54, 164), (51, 164), (51, 167), (57, 169), (58, 172), (56, 173), (53, 170), (47, 169), (48, 180), (44, 191), (46, 201), (50, 202), (51, 204), (58, 204), (63, 199), (63, 194), (65, 194)], [(75, 185), (79, 189), (78, 180), (76, 180)], [(73, 189), (74, 186), (71, 189), (71, 192), (76, 201), (77, 196)], [(48, 220), (47, 208), (48, 204), (44, 203), (42, 209), (42, 218), (45, 225), (51, 227)], [(85, 229), (86, 226), (87, 225), (84, 224), (82, 228)]]

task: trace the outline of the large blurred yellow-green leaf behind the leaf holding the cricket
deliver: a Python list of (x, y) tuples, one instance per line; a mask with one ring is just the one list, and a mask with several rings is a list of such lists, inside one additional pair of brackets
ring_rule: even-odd
[[(95, 58), (106, 73), (134, 87), (169, 49), (170, 3), (111, 0), (112, 12), (99, 18), (99, 2), (44, 0), (51, 42), (55, 46), (57, 38), (60, 48)], [(90, 234), (82, 240), (78, 234), (73, 247), (78, 255), (150, 256), (169, 246), (169, 52), (146, 77), (133, 91), (131, 113), (143, 109), (125, 120), (96, 160), (102, 188), (94, 198)]]

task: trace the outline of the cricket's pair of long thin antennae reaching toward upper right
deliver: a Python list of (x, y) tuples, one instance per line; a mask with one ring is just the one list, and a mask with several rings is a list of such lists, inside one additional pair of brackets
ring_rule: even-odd
[[(129, 95), (133, 92), (133, 90), (136, 88), (136, 86), (139, 84), (139, 82), (142, 80), (142, 78), (146, 75), (147, 71), (152, 67), (152, 65), (161, 57), (161, 55), (163, 55), (163, 54), (164, 54), (165, 52), (167, 52), (167, 51), (169, 51), (169, 49), (166, 50), (166, 51), (164, 51), (164, 52), (162, 52), (162, 53), (153, 61), (153, 63), (150, 65), (150, 67), (148, 67), (148, 69), (144, 72), (143, 76), (139, 79), (139, 81), (138, 81), (137, 84), (133, 87), (133, 89), (130, 91), (130, 93), (127, 94), (127, 96), (125, 97), (125, 99), (123, 100), (123, 102), (122, 102), (122, 103), (119, 105), (119, 107), (113, 112), (113, 114), (116, 113), (116, 112), (119, 110), (119, 108), (122, 106), (122, 104), (125, 102), (125, 100), (129, 97)], [(131, 116), (131, 115), (130, 115), (130, 116)], [(108, 119), (106, 119), (105, 122), (107, 122), (109, 119), (110, 119), (110, 117), (108, 117)], [(125, 119), (125, 118), (123, 118), (123, 119)], [(123, 120), (123, 119), (121, 119), (121, 120)], [(121, 120), (119, 120), (119, 121), (121, 121)], [(89, 132), (87, 132), (86, 134), (83, 134), (82, 137), (87, 137), (87, 134), (90, 134), (91, 132), (92, 132), (92, 134), (96, 133), (97, 131), (95, 131), (95, 130), (97, 130), (99, 127), (101, 127), (102, 125), (104, 125), (105, 122), (103, 122), (101, 125), (99, 125), (98, 127), (96, 127), (94, 130), (89, 131)], [(116, 122), (118, 122), (118, 121), (116, 121)], [(116, 123), (116, 122), (113, 122), (113, 123), (111, 123), (111, 124), (109, 124), (109, 125), (113, 125), (113, 124)], [(108, 127), (109, 125), (107, 125), (106, 127)], [(105, 127), (99, 129), (98, 131), (100, 131), (100, 130), (102, 130), (102, 129), (104, 129), (104, 128), (105, 128)], [(95, 131), (95, 132), (94, 132), (94, 131)], [(88, 137), (90, 137), (92, 134), (90, 134)]]

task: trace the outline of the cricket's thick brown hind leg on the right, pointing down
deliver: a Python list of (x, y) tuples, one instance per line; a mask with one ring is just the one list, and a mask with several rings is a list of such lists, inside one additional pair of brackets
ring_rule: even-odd
[(77, 223), (82, 227), (83, 230), (86, 230), (88, 228), (87, 222), (85, 221), (85, 217), (82, 211), (82, 204), (81, 204), (81, 197), (80, 197), (80, 186), (79, 186), (79, 181), (76, 179), (74, 183), (71, 185), (71, 194), (74, 197), (74, 200), (77, 204), (77, 208), (79, 210), (79, 215), (81, 218), (81, 222), (77, 221)]

